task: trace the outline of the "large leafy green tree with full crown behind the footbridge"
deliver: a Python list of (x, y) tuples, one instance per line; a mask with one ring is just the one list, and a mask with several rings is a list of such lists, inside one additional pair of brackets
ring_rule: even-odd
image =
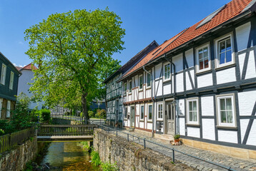
[(108, 9), (83, 9), (51, 14), (26, 29), (26, 54), (39, 66), (30, 88), (35, 97), (49, 106), (74, 103), (79, 97), (88, 120), (89, 102), (104, 92), (102, 80), (119, 68), (112, 55), (123, 49), (121, 24)]

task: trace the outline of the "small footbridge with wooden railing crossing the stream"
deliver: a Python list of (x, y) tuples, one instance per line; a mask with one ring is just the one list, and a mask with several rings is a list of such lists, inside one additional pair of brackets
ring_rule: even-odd
[(97, 125), (39, 125), (38, 142), (92, 141)]

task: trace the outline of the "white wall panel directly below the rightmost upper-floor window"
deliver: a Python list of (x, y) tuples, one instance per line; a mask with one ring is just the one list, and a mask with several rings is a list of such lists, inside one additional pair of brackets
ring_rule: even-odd
[(228, 69), (225, 69), (225, 70), (222, 70), (222, 71), (217, 71), (216, 72), (216, 77), (217, 77), (217, 84), (229, 83), (229, 82), (232, 82), (232, 81), (236, 81), (235, 67), (228, 68)]

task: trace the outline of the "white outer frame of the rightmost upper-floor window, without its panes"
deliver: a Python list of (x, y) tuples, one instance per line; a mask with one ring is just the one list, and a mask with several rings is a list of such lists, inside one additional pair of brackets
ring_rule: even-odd
[[(232, 51), (231, 61), (228, 62), (228, 63), (219, 64), (220, 63), (220, 61), (219, 61), (219, 42), (224, 40), (224, 39), (227, 39), (227, 38), (230, 38), (230, 43), (231, 43), (231, 51)], [(222, 67), (225, 67), (225, 66), (230, 66), (230, 65), (235, 63), (234, 43), (233, 43), (233, 34), (232, 33), (228, 33), (225, 36), (222, 36), (222, 37), (217, 38), (215, 40), (215, 56), (216, 56), (216, 61), (215, 61), (216, 68), (222, 68)]]

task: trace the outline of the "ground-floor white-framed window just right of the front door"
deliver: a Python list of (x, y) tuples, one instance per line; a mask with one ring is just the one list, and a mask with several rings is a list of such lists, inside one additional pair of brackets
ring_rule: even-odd
[(187, 123), (198, 124), (197, 98), (187, 100)]

